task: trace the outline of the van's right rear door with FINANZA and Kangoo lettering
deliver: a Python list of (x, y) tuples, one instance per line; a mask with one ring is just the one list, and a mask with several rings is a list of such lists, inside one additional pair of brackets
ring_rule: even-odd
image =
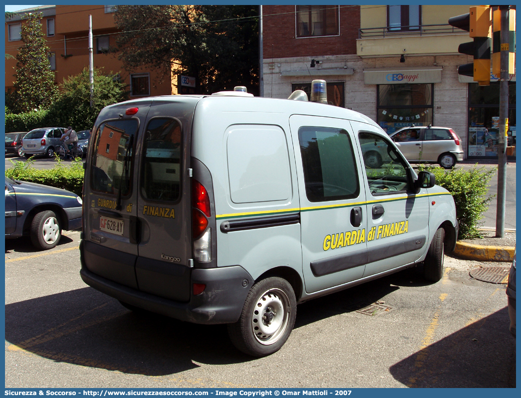
[(139, 289), (183, 302), (190, 300), (192, 99), (154, 101), (140, 139), (138, 165)]

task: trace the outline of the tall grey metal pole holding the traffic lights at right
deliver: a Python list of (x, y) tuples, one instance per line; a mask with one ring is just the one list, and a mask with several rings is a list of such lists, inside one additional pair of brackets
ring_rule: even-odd
[(499, 85), (499, 120), (500, 131), (498, 140), (498, 204), (495, 221), (495, 236), (505, 235), (505, 205), (506, 205), (506, 121), (508, 120), (508, 13), (510, 6), (500, 6), (501, 11), (501, 76)]

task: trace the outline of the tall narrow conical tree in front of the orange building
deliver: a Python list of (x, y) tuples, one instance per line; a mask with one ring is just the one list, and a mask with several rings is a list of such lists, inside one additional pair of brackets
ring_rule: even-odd
[(27, 22), (22, 23), (23, 46), (16, 56), (14, 83), (18, 112), (46, 107), (53, 102), (58, 92), (40, 22), (42, 15), (29, 13), (22, 17)]

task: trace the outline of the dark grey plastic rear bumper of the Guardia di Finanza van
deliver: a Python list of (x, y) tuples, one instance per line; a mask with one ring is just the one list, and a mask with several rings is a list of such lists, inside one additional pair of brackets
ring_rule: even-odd
[(115, 299), (145, 310), (194, 324), (231, 324), (239, 319), (246, 296), (253, 285), (251, 275), (240, 266), (192, 269), (191, 282), (204, 283), (203, 293), (187, 303), (141, 292), (100, 277), (82, 264), (83, 282)]

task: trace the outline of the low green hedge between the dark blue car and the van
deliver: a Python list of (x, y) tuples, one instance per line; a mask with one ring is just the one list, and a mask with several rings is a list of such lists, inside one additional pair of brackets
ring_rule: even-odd
[(84, 170), (80, 159), (72, 160), (70, 165), (65, 165), (56, 156), (56, 165), (52, 169), (36, 169), (33, 166), (32, 158), (26, 161), (11, 160), (11, 163), (13, 163), (13, 167), (5, 171), (6, 177), (55, 186), (81, 196)]

